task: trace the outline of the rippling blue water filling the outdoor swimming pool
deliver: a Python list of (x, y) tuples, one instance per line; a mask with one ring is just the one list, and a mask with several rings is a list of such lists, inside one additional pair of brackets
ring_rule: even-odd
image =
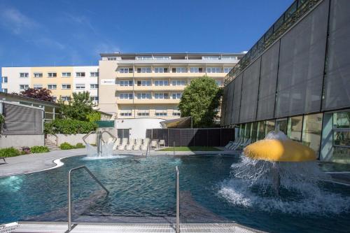
[[(74, 208), (83, 211), (76, 212), (74, 219), (174, 217), (175, 167), (179, 166), (183, 222), (235, 221), (267, 232), (349, 232), (350, 229), (349, 208), (322, 213), (269, 211), (227, 199), (222, 195), (223, 185), (230, 181), (231, 165), (239, 162), (238, 157), (231, 155), (126, 155), (109, 160), (78, 156), (62, 162), (64, 166), (57, 169), (0, 178), (0, 223), (66, 221), (67, 174), (69, 169), (81, 165), (87, 166), (110, 194), (100, 196), (103, 192), (90, 176), (83, 170), (76, 171), (72, 178)], [(350, 197), (349, 186), (324, 183), (322, 189)]]

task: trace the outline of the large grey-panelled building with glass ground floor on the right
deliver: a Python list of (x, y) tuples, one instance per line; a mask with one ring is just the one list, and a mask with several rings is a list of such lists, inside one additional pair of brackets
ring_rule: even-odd
[(295, 1), (281, 18), (271, 33), (283, 33), (269, 29), (226, 77), (221, 126), (252, 141), (279, 129), (320, 160), (350, 162), (350, 1)]

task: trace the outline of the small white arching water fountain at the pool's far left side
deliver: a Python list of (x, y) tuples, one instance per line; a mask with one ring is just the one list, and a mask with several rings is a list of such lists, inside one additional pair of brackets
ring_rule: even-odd
[[(96, 148), (94, 146), (90, 145), (90, 143), (87, 143), (85, 140), (87, 139), (90, 134), (97, 134), (96, 136)], [(110, 138), (107, 141), (104, 141), (103, 135), (109, 134)], [(111, 157), (113, 155), (113, 144), (116, 142), (117, 138), (116, 136), (113, 136), (110, 132), (104, 130), (104, 131), (97, 131), (97, 132), (90, 132), (83, 136), (83, 141), (85, 143), (85, 146), (87, 148), (87, 157), (97, 157), (97, 158), (107, 158)]]

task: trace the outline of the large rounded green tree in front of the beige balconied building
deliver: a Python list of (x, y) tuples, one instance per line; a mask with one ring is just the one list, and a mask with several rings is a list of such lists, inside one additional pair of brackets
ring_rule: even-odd
[(222, 93), (213, 78), (203, 76), (192, 80), (181, 97), (181, 116), (192, 116), (194, 127), (212, 127)]

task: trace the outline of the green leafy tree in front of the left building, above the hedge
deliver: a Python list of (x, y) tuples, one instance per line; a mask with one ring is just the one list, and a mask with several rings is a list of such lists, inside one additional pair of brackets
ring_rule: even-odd
[(60, 111), (64, 118), (89, 121), (89, 115), (96, 112), (89, 92), (73, 92), (73, 99), (66, 104), (59, 100)]

